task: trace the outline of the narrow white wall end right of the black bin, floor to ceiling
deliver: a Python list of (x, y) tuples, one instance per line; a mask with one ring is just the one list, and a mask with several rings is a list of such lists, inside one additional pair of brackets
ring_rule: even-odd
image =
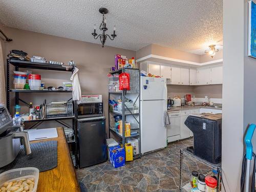
[[(245, 1), (223, 1), (222, 178), (227, 192), (240, 191), (244, 136), (244, 78), (247, 78), (247, 69), (244, 71), (245, 4)], [(248, 78), (255, 82), (254, 77)], [(250, 90), (253, 88), (247, 90), (252, 94), (253, 91)], [(253, 95), (255, 98), (254, 93)], [(255, 103), (255, 99), (248, 102)]]

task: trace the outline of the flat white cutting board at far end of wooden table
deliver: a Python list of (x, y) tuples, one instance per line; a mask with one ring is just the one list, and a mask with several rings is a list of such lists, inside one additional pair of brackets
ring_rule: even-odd
[(40, 139), (51, 139), (58, 137), (56, 128), (29, 130), (29, 141), (35, 141)]

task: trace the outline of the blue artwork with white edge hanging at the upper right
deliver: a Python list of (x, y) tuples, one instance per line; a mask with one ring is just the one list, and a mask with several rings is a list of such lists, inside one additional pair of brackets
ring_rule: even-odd
[(248, 56), (256, 58), (256, 2), (248, 2)]

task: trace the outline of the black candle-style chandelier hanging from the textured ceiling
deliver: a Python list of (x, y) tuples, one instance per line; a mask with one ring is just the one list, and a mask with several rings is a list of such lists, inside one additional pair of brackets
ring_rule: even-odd
[(111, 40), (114, 40), (114, 38), (117, 36), (116, 35), (116, 27), (114, 26), (113, 34), (111, 34), (112, 38), (108, 34), (105, 34), (105, 32), (108, 31), (108, 28), (106, 28), (105, 14), (108, 13), (109, 10), (106, 8), (100, 8), (99, 12), (102, 14), (102, 22), (100, 23), (100, 26), (99, 26), (99, 30), (102, 31), (102, 34), (98, 35), (96, 33), (96, 25), (94, 24), (94, 30), (93, 30), (92, 35), (94, 36), (95, 39), (97, 39), (99, 37), (102, 47), (104, 47), (106, 37), (109, 37)]

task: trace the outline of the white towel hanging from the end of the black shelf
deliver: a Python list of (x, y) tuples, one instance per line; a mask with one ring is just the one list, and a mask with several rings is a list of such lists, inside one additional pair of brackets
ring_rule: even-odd
[(82, 100), (80, 82), (78, 78), (78, 69), (75, 67), (75, 70), (70, 78), (72, 80), (73, 85), (73, 100), (77, 100), (79, 103)]

